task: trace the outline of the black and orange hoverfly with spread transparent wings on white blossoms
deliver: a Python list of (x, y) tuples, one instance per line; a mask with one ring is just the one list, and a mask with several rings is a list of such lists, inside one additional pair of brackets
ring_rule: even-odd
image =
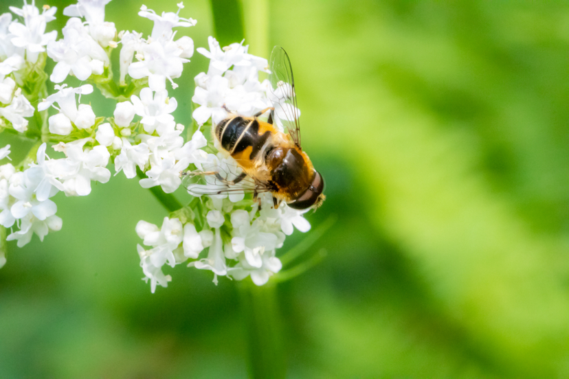
[[(317, 208), (324, 201), (324, 179), (317, 172), (300, 145), (299, 111), (296, 103), (295, 84), (291, 61), (285, 49), (274, 47), (269, 60), (269, 81), (274, 106), (265, 108), (253, 117), (236, 113), (212, 127), (212, 134), (221, 150), (230, 154), (238, 168), (212, 172), (188, 172), (186, 174), (209, 176), (205, 181), (214, 184), (188, 186), (188, 192), (196, 195), (258, 194), (270, 192), (275, 207), (285, 201), (293, 209)], [(279, 121), (287, 128), (282, 133), (274, 126), (275, 108)], [(270, 111), (269, 119), (258, 119)], [(284, 116), (284, 117), (282, 117)]]

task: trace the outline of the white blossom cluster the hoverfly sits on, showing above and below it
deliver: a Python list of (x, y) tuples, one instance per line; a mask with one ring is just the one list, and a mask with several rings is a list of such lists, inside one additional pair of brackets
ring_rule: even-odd
[[(199, 124), (210, 118), (213, 124), (220, 122), (227, 117), (227, 108), (250, 116), (274, 104), (269, 82), (258, 80), (258, 71), (266, 71), (267, 60), (247, 54), (243, 43), (221, 49), (213, 37), (209, 42), (211, 51), (197, 49), (210, 58), (208, 73), (195, 78), (193, 100), (201, 106), (193, 116)], [(217, 150), (214, 146), (208, 148)], [(239, 173), (238, 164), (226, 152), (194, 150), (193, 154), (194, 172), (223, 172), (227, 180)], [(188, 187), (190, 194), (197, 187), (212, 194), (223, 187), (212, 175), (204, 179), (205, 184)], [(138, 223), (138, 236), (150, 246), (147, 250), (139, 245), (138, 253), (152, 292), (157, 285), (168, 286), (172, 279), (164, 275), (164, 264), (173, 267), (188, 260), (190, 267), (212, 271), (215, 284), (219, 276), (237, 280), (251, 277), (262, 286), (280, 271), (282, 264), (276, 249), (282, 246), (285, 236), (293, 233), (293, 227), (306, 232), (311, 226), (302, 217), (303, 211), (291, 209), (286, 203), (275, 209), (271, 194), (261, 194), (257, 201), (244, 198), (244, 192), (214, 194), (203, 201), (201, 214), (194, 215), (193, 220), (164, 218), (161, 228), (146, 221)], [(204, 249), (207, 253), (201, 256)]]

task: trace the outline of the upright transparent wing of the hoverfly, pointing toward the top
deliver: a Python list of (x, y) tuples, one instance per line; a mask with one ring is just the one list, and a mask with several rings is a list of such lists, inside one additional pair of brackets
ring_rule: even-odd
[(287, 51), (275, 46), (269, 60), (269, 81), (271, 82), (271, 101), (275, 107), (277, 122), (287, 128), (296, 146), (300, 148), (300, 111), (296, 103), (296, 92), (291, 60)]

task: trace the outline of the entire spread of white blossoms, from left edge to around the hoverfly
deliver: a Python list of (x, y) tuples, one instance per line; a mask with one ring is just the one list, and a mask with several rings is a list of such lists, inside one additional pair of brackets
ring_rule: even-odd
[[(56, 216), (53, 196), (58, 192), (66, 196), (90, 194), (92, 181), (107, 183), (111, 178), (109, 161), (114, 162), (115, 175), (122, 171), (132, 179), (138, 168), (146, 174), (139, 182), (142, 187), (159, 185), (167, 194), (179, 188), (181, 172), (188, 168), (193, 174), (203, 173), (205, 184), (193, 187), (201, 187), (204, 193), (219, 190), (212, 172), (225, 172), (232, 180), (241, 170), (227, 152), (208, 143), (200, 130), (184, 143), (184, 126), (172, 116), (178, 104), (168, 95), (166, 80), (175, 89), (177, 84), (172, 80), (181, 76), (183, 63), (189, 62), (194, 53), (191, 38), (174, 39), (172, 28), (196, 24), (194, 19), (179, 16), (183, 4), (178, 4), (176, 13), (161, 15), (142, 5), (138, 14), (154, 22), (150, 36), (142, 38), (135, 31), (117, 34), (114, 23), (104, 20), (104, 7), (109, 1), (78, 0), (65, 8), (63, 13), (71, 18), (63, 28), (63, 38), (57, 41), (57, 32), (45, 34), (45, 25), (54, 19), (56, 8), (45, 6), (40, 14), (32, 1), (22, 9), (10, 8), (22, 23), (12, 21), (11, 14), (0, 16), (0, 126), (7, 121), (19, 132), (27, 130), (25, 117), (34, 115), (35, 109), (26, 96), (36, 104), (39, 94), (47, 91), (46, 76), (42, 75), (37, 76), (44, 78), (41, 85), (24, 86), (32, 77), (27, 76), (30, 64), (41, 70), (46, 56), (56, 62), (49, 76), (57, 83), (56, 92), (38, 99), (37, 111), (46, 118), (49, 108), (57, 113), (41, 126), (41, 137), (36, 136), (37, 150), (27, 154), (25, 163), (0, 166), (0, 225), (10, 229), (7, 239), (17, 240), (18, 246), (30, 242), (34, 233), (43, 240), (50, 230), (59, 230), (62, 220)], [(120, 41), (115, 40), (117, 37)], [(91, 84), (74, 88), (63, 81), (75, 76), (106, 91), (107, 87), (101, 86), (112, 81), (109, 57), (118, 43), (122, 45), (121, 89), (118, 95), (109, 93), (121, 102), (113, 117), (105, 119), (97, 117), (90, 104), (81, 104), (81, 98), (93, 92)], [(278, 124), (280, 100), (285, 97), (275, 95), (269, 80), (259, 80), (259, 71), (268, 72), (267, 60), (248, 54), (243, 42), (222, 49), (210, 37), (209, 45), (209, 51), (197, 49), (210, 58), (208, 73), (195, 78), (192, 100), (200, 105), (193, 113), (197, 124), (203, 126), (210, 119), (211, 124), (216, 124), (227, 116), (227, 111), (251, 116), (269, 106), (276, 108)], [(133, 62), (134, 58), (137, 61)], [(132, 79), (130, 84), (126, 83), (127, 74)], [(34, 95), (22, 93), (23, 88), (32, 87), (36, 88)], [(127, 88), (132, 89), (128, 95)], [(278, 126), (282, 130), (282, 124)], [(63, 153), (60, 158), (49, 158), (47, 143), (39, 139), (52, 143), (56, 152)], [(0, 148), (0, 159), (8, 154), (9, 145)], [(194, 198), (190, 205), (164, 218), (160, 228), (138, 222), (136, 232), (148, 246), (137, 246), (140, 265), (152, 292), (157, 285), (167, 286), (171, 280), (162, 271), (165, 264), (173, 267), (185, 262), (212, 271), (215, 284), (219, 276), (237, 280), (251, 277), (260, 286), (280, 271), (282, 264), (276, 249), (294, 227), (305, 232), (310, 224), (302, 217), (304, 212), (285, 203), (275, 208), (271, 194), (256, 199), (247, 196), (243, 192), (225, 192)], [(4, 263), (5, 257), (0, 257), (0, 266)]]

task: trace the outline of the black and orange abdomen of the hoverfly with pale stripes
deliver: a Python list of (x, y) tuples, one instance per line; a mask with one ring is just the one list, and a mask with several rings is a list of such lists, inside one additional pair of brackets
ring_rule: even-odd
[(245, 161), (258, 158), (272, 133), (275, 130), (270, 124), (241, 116), (224, 119), (215, 127), (215, 137), (221, 147), (244, 166), (248, 165)]

